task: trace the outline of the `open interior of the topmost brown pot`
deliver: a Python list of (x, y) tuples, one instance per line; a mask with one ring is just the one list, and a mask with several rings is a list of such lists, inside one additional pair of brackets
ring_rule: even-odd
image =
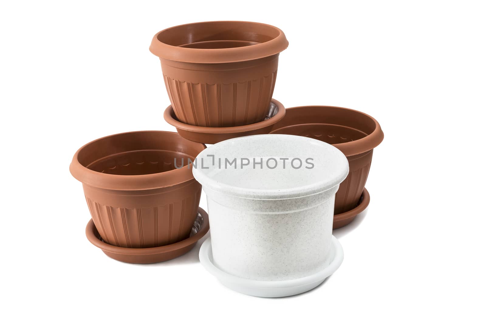
[(208, 21), (175, 26), (157, 35), (165, 44), (194, 49), (227, 49), (251, 46), (276, 38), (273, 26), (247, 21)]

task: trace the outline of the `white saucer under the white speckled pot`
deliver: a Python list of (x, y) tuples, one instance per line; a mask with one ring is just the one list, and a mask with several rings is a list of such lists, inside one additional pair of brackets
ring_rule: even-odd
[(201, 246), (199, 260), (209, 273), (231, 290), (257, 297), (285, 297), (314, 289), (339, 268), (344, 259), (343, 247), (334, 236), (331, 238), (331, 244), (330, 264), (328, 266), (317, 273), (292, 280), (251, 280), (222, 271), (213, 264), (211, 238), (206, 239)]

